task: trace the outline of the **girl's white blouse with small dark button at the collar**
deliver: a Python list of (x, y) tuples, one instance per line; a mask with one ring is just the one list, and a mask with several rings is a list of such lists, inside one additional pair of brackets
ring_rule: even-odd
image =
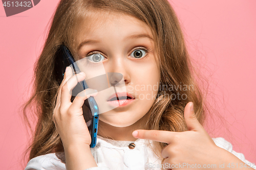
[[(247, 161), (242, 153), (237, 153), (232, 150), (230, 142), (226, 141), (222, 137), (212, 139), (218, 147), (229, 151), (244, 163), (256, 169), (255, 164)], [(144, 139), (137, 139), (135, 141), (119, 141), (97, 136), (96, 147), (91, 148), (91, 153), (98, 167), (91, 167), (84, 170), (160, 170), (161, 159), (156, 157), (153, 151), (146, 147), (144, 142)], [(131, 145), (129, 147), (130, 143), (132, 143), (132, 147)], [(191, 166), (193, 167), (193, 165)], [(227, 165), (225, 165), (225, 167), (226, 166)], [(218, 167), (219, 165), (217, 165), (217, 168)], [(34, 169), (65, 170), (66, 164), (64, 152), (41, 155), (31, 159), (25, 170)]]

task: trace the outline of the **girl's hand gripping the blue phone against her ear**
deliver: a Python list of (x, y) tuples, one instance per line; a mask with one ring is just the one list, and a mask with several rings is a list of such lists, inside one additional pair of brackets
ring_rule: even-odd
[[(87, 124), (83, 118), (82, 105), (84, 100), (88, 98), (87, 95), (80, 95), (76, 97), (73, 102), (70, 101), (71, 94), (68, 87), (75, 87), (78, 81), (84, 80), (84, 74), (72, 74), (72, 70), (68, 67), (65, 72), (63, 81), (60, 84), (58, 91), (56, 106), (54, 108), (53, 120), (59, 132), (64, 148), (68, 148), (72, 144), (91, 144), (91, 135)], [(93, 93), (93, 89), (86, 89), (88, 93)], [(82, 93), (81, 92), (81, 93)], [(97, 95), (97, 92), (90, 94)]]

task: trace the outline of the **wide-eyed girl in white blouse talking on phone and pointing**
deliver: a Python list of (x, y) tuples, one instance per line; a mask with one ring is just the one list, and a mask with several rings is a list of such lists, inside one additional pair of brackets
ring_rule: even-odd
[[(95, 148), (81, 107), (100, 92), (86, 89), (87, 95), (70, 101), (76, 78), (86, 75), (73, 76), (67, 67), (59, 84), (55, 54), (62, 44), (75, 60), (97, 54), (106, 72), (123, 75), (133, 98), (99, 115)], [(25, 169), (255, 168), (225, 139), (204, 130), (207, 108), (193, 75), (166, 0), (60, 1), (36, 63), (35, 92), (24, 108), (34, 102), (38, 116)]]

